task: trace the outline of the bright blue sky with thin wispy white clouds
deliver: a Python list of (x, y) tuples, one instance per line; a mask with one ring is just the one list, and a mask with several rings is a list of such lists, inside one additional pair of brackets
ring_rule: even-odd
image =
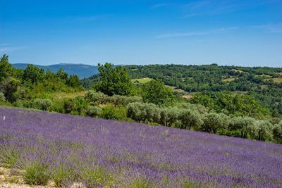
[(11, 63), (282, 67), (281, 0), (0, 0)]

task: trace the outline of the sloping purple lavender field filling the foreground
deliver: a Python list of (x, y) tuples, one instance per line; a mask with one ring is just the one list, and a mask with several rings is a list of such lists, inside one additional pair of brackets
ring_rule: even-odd
[(280, 144), (19, 108), (0, 118), (0, 165), (57, 186), (282, 187)]

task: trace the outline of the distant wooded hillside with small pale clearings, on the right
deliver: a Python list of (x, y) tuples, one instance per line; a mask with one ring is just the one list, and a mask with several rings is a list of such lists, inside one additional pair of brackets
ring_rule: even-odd
[[(212, 65), (127, 65), (131, 77), (150, 77), (186, 92), (247, 92), (273, 115), (282, 115), (282, 68)], [(228, 80), (229, 79), (229, 80)]]

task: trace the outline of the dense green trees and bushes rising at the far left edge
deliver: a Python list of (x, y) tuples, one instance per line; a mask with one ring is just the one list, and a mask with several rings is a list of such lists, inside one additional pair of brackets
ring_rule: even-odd
[(57, 73), (44, 71), (35, 65), (27, 65), (25, 70), (13, 68), (8, 56), (0, 58), (0, 93), (1, 101), (19, 104), (22, 101), (36, 99), (51, 92), (74, 92), (82, 90), (79, 77), (68, 76), (62, 69)]

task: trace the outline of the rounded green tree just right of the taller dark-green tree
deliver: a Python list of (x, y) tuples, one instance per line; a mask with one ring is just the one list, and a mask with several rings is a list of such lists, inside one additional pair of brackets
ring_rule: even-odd
[(159, 106), (171, 106), (175, 101), (172, 89), (166, 87), (159, 80), (151, 80), (142, 87), (142, 99), (146, 103)]

